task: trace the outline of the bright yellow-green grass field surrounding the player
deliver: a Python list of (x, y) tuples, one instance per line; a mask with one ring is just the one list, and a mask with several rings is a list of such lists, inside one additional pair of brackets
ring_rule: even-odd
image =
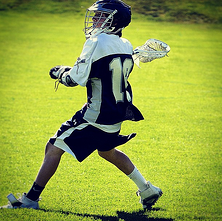
[[(48, 71), (72, 66), (84, 43), (83, 18), (70, 14), (0, 13), (0, 205), (26, 192), (44, 146), (86, 101), (85, 89), (54, 91)], [(134, 46), (148, 38), (171, 46), (169, 57), (135, 67), (130, 82), (145, 120), (123, 124), (137, 137), (121, 146), (164, 192), (144, 212), (126, 176), (93, 153), (83, 163), (65, 154), (42, 194), (41, 209), (0, 210), (0, 220), (221, 220), (221, 25), (133, 19)]]

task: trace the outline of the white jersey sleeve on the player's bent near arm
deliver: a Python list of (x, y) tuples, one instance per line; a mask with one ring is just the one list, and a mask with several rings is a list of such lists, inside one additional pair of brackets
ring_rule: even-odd
[(80, 57), (75, 62), (70, 71), (70, 77), (79, 85), (86, 86), (91, 66), (93, 63), (93, 54), (96, 49), (97, 42), (88, 39), (83, 47)]

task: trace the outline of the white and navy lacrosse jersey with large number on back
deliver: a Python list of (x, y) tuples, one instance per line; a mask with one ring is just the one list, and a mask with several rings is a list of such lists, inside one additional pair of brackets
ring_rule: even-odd
[(134, 65), (132, 52), (131, 43), (117, 35), (103, 33), (85, 42), (69, 74), (76, 83), (87, 87), (84, 120), (111, 131), (112, 127), (119, 130), (126, 119), (135, 120), (133, 110), (141, 115), (132, 105), (128, 82)]

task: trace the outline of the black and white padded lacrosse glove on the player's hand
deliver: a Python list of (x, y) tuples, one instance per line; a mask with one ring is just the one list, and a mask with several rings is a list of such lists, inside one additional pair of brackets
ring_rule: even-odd
[(75, 87), (78, 84), (70, 77), (71, 67), (69, 66), (56, 66), (49, 71), (49, 75), (52, 79), (58, 79), (59, 83), (64, 84), (67, 87)]

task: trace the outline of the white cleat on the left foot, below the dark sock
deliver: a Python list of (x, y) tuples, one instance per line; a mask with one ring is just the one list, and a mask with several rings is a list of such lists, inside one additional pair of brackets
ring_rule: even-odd
[(26, 193), (22, 194), (22, 197), (16, 199), (15, 196), (10, 193), (7, 196), (9, 202), (8, 205), (1, 206), (1, 209), (18, 209), (18, 208), (29, 208), (29, 209), (39, 209), (39, 199), (36, 201), (30, 200), (26, 197)]

